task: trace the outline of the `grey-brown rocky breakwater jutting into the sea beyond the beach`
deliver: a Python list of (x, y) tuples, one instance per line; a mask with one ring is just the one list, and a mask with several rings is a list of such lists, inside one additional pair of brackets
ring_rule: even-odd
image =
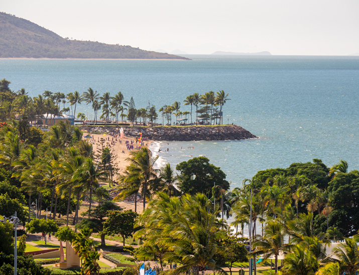
[[(82, 126), (84, 130), (94, 132), (113, 132), (119, 134), (120, 127)], [(190, 127), (123, 127), (124, 134), (137, 138), (142, 137), (154, 141), (227, 141), (255, 139), (257, 136), (238, 125), (225, 126), (190, 126)]]

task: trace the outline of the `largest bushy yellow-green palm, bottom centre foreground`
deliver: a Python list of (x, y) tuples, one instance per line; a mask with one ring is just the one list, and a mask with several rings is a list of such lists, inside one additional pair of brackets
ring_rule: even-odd
[(217, 221), (217, 214), (218, 208), (213, 212), (212, 204), (204, 194), (185, 194), (179, 199), (161, 192), (139, 217), (138, 225), (144, 228), (135, 235), (146, 235), (145, 246), (167, 248), (164, 260), (180, 263), (172, 270), (173, 274), (195, 268), (198, 275), (206, 266), (221, 270), (213, 257), (223, 250), (218, 240), (225, 236), (226, 226)]

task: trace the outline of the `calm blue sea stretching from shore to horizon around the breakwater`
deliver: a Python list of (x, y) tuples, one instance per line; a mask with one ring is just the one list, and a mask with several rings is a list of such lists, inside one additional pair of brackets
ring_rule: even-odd
[[(88, 87), (100, 94), (121, 91), (125, 100), (134, 97), (137, 108), (150, 102), (157, 109), (194, 92), (224, 90), (231, 99), (223, 108), (224, 122), (241, 125), (259, 139), (152, 148), (169, 149), (159, 153), (159, 165), (206, 156), (227, 174), (232, 188), (258, 170), (314, 158), (327, 166), (342, 159), (350, 170), (359, 169), (359, 57), (189, 57), (193, 60), (0, 59), (0, 79), (31, 96), (45, 90), (83, 93)], [(190, 107), (181, 106), (185, 110)], [(93, 117), (89, 105), (77, 111)]]

